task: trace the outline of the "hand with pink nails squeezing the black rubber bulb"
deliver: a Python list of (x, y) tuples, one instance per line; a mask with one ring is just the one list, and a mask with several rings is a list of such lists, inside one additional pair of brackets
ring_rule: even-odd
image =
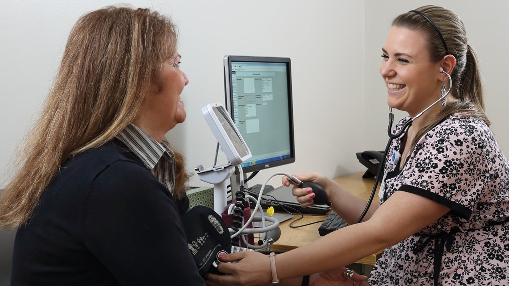
[[(325, 177), (322, 174), (318, 174), (315, 172), (312, 173), (304, 173), (300, 175), (293, 175), (297, 179), (301, 180), (302, 182), (314, 182), (319, 185), (321, 185), (325, 192), (327, 193), (327, 198), (329, 198), (330, 201), (330, 190), (329, 190), (329, 181), (327, 177)], [(292, 184), (291, 181), (288, 180), (286, 176), (283, 176), (281, 179), (281, 183), (285, 186), (290, 186)], [(298, 186), (294, 186), (292, 188), (292, 195), (297, 197), (297, 202), (300, 203), (301, 207), (308, 207), (310, 205), (313, 205), (313, 199), (315, 198), (315, 193), (313, 193), (313, 190), (309, 187), (306, 188), (299, 188)]]

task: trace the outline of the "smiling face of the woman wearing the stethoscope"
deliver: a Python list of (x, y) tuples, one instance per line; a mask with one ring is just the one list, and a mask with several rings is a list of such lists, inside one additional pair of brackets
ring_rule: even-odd
[(439, 62), (431, 62), (426, 34), (393, 26), (382, 48), (380, 74), (387, 104), (415, 116), (440, 97)]

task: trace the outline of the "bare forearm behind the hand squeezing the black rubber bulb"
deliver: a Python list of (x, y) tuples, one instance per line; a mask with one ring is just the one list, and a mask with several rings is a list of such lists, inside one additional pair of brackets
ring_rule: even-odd
[[(332, 209), (340, 214), (350, 225), (355, 223), (367, 204), (367, 200), (353, 195), (332, 180), (329, 181), (329, 201), (332, 203)], [(369, 219), (378, 209), (378, 206), (378, 200), (373, 200), (362, 221)]]

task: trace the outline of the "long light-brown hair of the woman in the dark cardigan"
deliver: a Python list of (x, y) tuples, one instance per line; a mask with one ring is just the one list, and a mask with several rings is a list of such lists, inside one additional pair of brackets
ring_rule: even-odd
[[(172, 21), (148, 9), (105, 7), (74, 25), (41, 117), (17, 157), (17, 173), (0, 194), (0, 227), (31, 216), (69, 157), (115, 138), (142, 107), (162, 62), (177, 51)], [(175, 198), (185, 192), (184, 157), (177, 158)]]

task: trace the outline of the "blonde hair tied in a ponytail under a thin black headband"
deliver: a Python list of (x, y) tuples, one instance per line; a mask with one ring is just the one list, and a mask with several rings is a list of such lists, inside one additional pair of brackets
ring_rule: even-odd
[[(447, 54), (454, 55), (457, 62), (450, 74), (453, 80), (450, 94), (454, 100), (448, 101), (446, 107), (437, 116), (422, 126), (412, 142), (412, 148), (424, 134), (452, 113), (462, 113), (462, 116), (479, 118), (488, 126), (490, 125), (484, 112), (483, 86), (477, 67), (477, 56), (467, 43), (463, 21), (453, 11), (438, 6), (422, 6), (415, 10), (425, 14), (437, 26), (445, 40), (447, 51), (436, 29), (422, 15), (414, 12), (401, 14), (394, 18), (392, 26), (425, 33), (428, 38), (428, 51), (432, 62), (440, 61)], [(437, 99), (438, 97), (439, 94), (437, 94)]]

